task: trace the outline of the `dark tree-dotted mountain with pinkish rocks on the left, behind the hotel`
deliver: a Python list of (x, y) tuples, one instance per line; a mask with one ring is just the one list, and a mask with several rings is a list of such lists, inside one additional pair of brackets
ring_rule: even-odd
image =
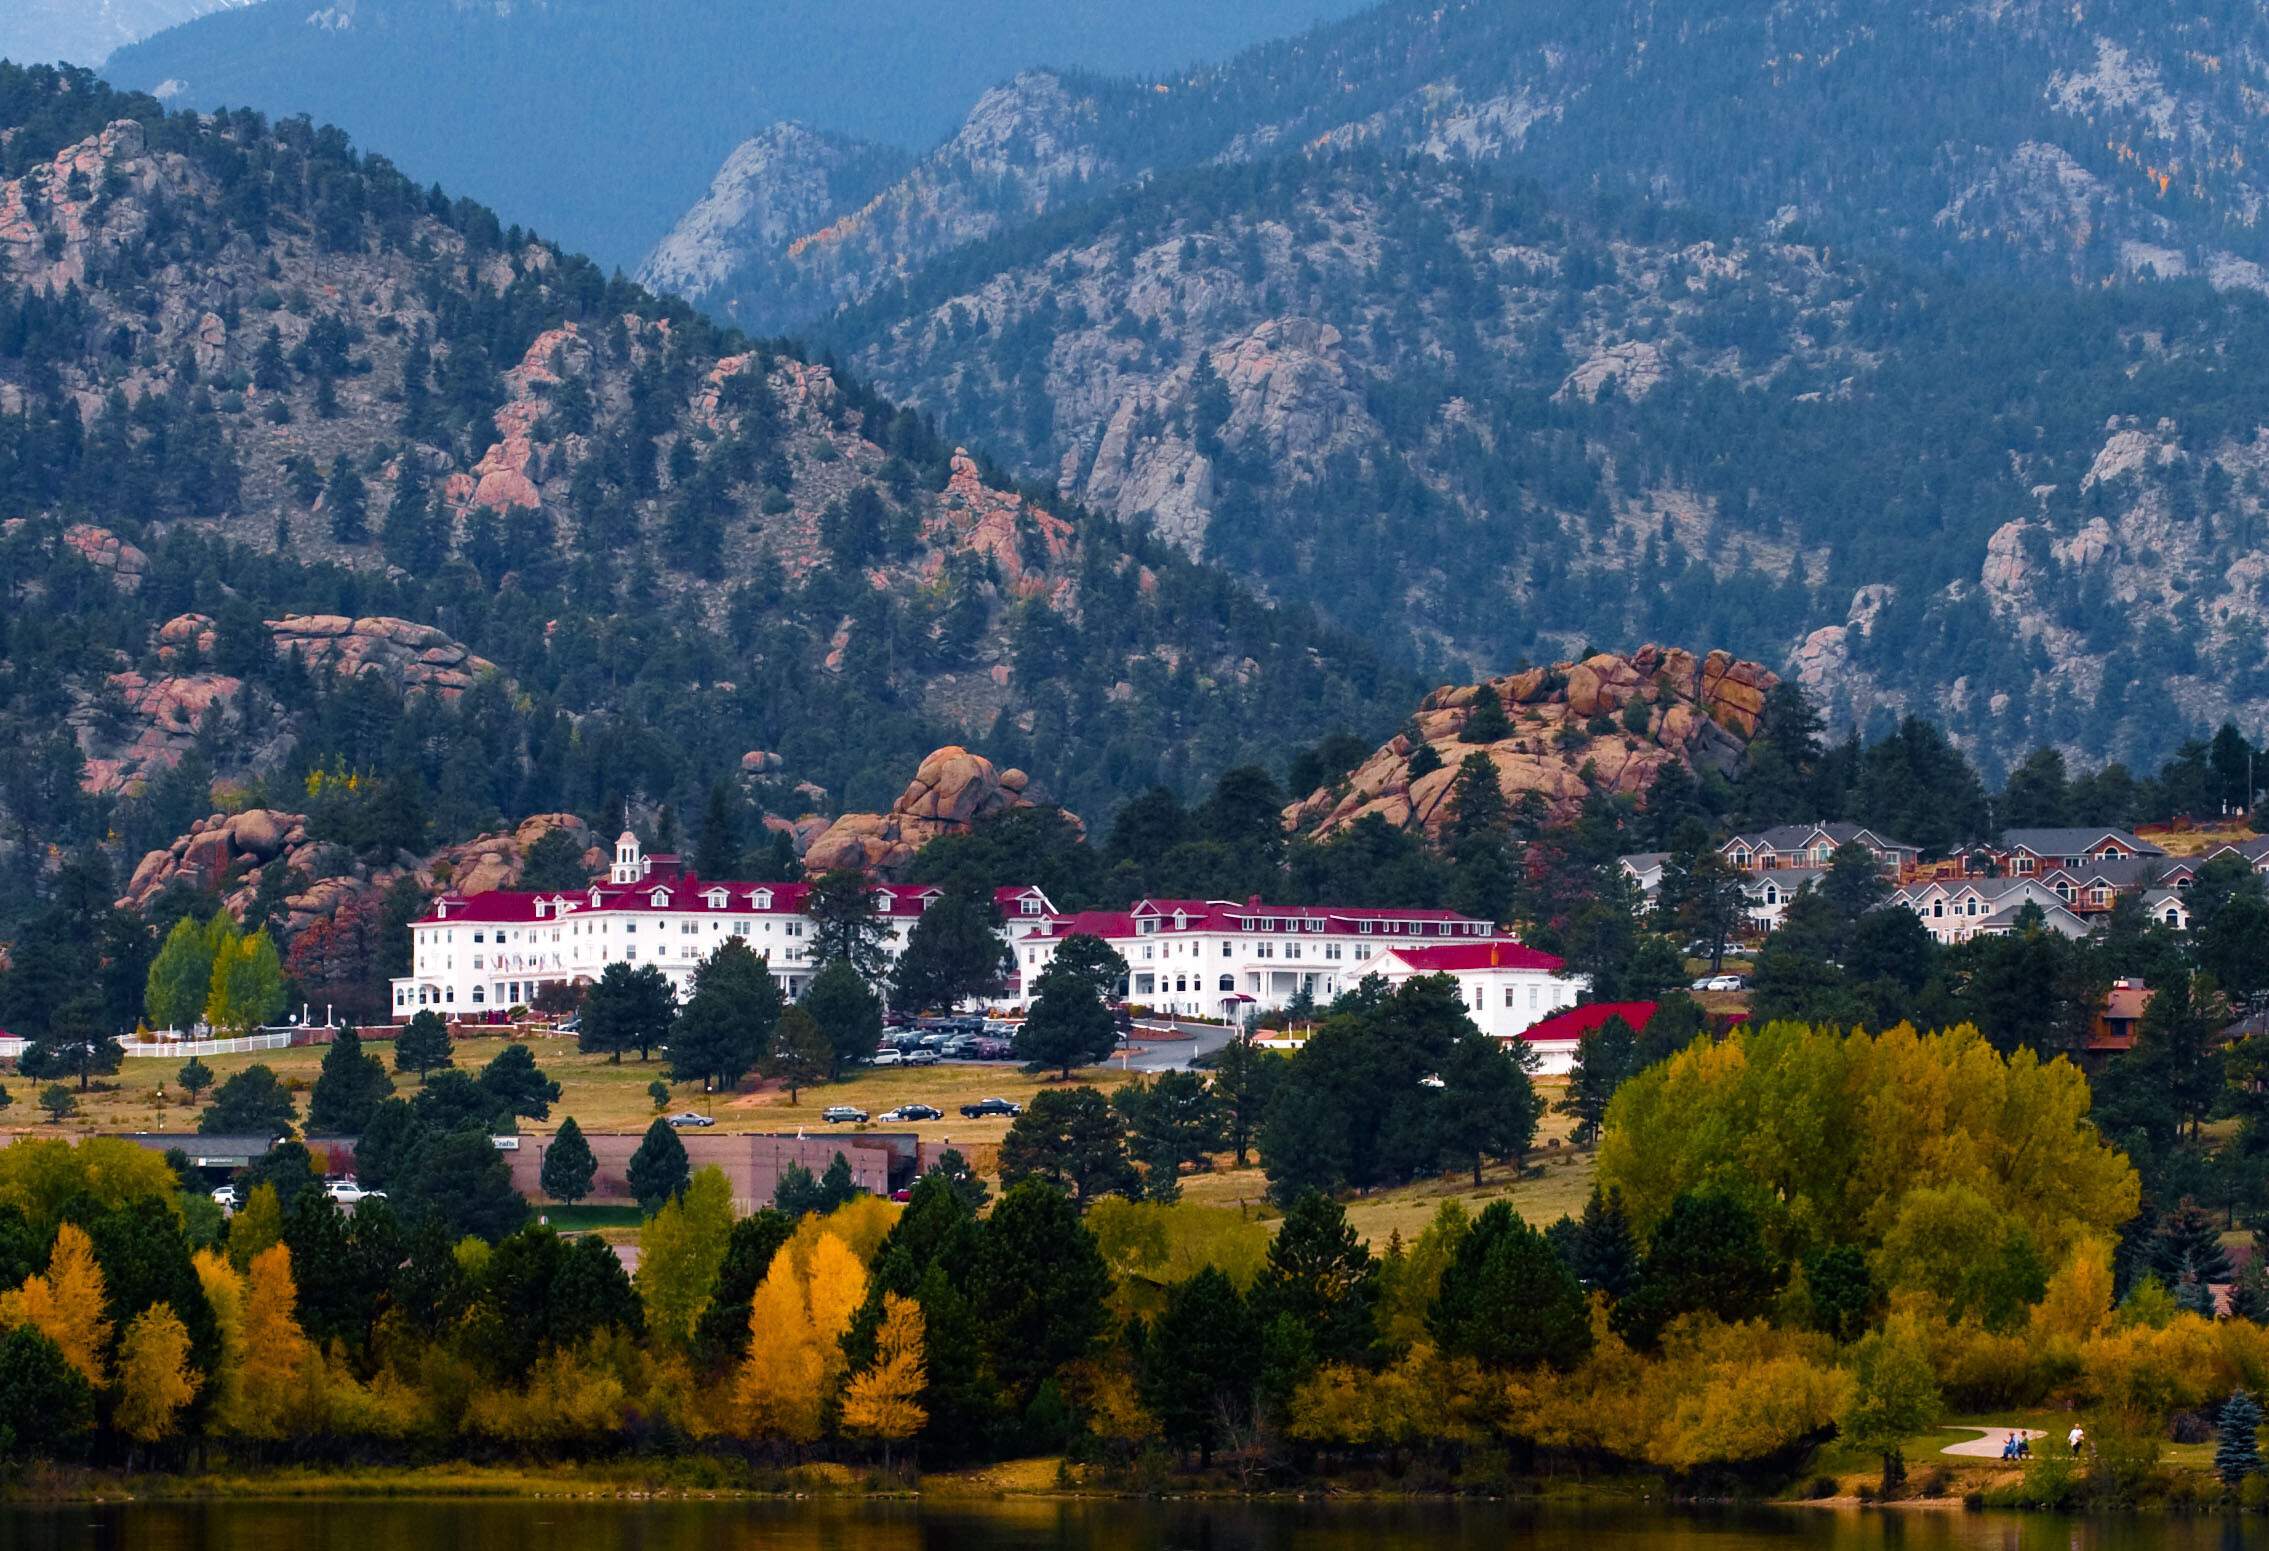
[(880, 807), (955, 739), (1110, 805), (1407, 694), (336, 132), (48, 70), (0, 102), (14, 864), (157, 848), (216, 776), (281, 812), (320, 787), (370, 855), (690, 812), (751, 748), (776, 816)]

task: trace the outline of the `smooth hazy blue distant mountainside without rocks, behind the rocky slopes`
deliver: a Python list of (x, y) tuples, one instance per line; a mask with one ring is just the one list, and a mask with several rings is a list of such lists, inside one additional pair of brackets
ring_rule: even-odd
[(313, 113), (633, 265), (751, 127), (928, 145), (1023, 66), (1180, 68), (1355, 0), (270, 0), (120, 50), (177, 107)]

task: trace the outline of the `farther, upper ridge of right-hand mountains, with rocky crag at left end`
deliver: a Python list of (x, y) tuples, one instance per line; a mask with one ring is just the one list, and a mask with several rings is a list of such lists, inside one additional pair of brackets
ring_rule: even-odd
[(878, 229), (846, 204), (712, 263), (699, 299), (801, 322), (1062, 204), (1001, 166), (1098, 181), (1357, 145), (1976, 272), (2262, 286), (2264, 91), (2269, 14), (2240, 0), (1389, 0), (1162, 88), (1028, 77), (885, 190)]

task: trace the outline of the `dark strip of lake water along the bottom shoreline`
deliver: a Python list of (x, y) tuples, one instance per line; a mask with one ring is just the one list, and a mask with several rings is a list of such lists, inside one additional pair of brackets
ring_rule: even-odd
[(1983, 1512), (1017, 1501), (134, 1503), (0, 1510), (5, 1551), (2237, 1551), (2269, 1522)]

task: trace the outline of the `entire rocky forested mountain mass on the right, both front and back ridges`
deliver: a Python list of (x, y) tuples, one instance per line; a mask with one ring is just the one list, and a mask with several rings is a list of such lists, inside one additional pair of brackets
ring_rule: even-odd
[(692, 290), (1432, 676), (1727, 642), (2156, 762), (2269, 714), (2264, 70), (2235, 5), (1384, 5), (1019, 77)]

